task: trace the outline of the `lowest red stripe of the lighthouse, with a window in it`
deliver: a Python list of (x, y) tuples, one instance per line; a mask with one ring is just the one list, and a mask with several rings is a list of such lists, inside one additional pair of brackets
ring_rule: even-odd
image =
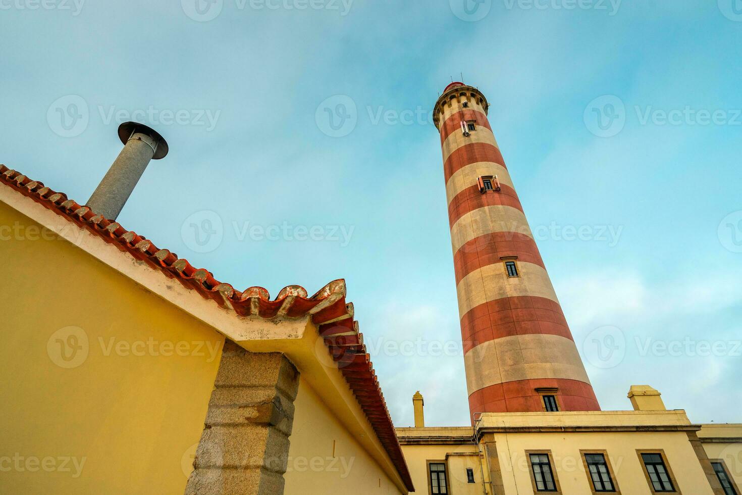
[(485, 387), (469, 396), (469, 410), (476, 413), (537, 413), (543, 410), (536, 388), (557, 388), (562, 410), (599, 411), (591, 384), (565, 378), (531, 378)]

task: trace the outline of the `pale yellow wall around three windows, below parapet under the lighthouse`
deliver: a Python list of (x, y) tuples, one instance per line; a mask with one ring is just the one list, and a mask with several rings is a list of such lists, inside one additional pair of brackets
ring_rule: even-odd
[[(712, 495), (706, 475), (685, 432), (502, 433), (495, 434), (505, 489), (532, 491), (526, 450), (551, 450), (564, 494), (589, 495), (588, 476), (580, 449), (607, 450), (623, 494), (649, 495), (636, 449), (664, 449), (683, 494)], [(516, 492), (517, 486), (517, 492)]]

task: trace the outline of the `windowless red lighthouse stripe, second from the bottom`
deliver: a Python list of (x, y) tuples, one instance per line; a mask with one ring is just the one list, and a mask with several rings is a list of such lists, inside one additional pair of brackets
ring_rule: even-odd
[(461, 320), (464, 354), (479, 344), (513, 335), (559, 335), (574, 341), (562, 307), (531, 295), (479, 304)]

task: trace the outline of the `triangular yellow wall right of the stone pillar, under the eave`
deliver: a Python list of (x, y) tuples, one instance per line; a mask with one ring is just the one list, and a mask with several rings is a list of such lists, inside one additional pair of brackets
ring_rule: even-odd
[[(399, 494), (317, 393), (300, 378), (289, 437), (286, 494)], [(332, 445), (335, 442), (335, 455)]]

